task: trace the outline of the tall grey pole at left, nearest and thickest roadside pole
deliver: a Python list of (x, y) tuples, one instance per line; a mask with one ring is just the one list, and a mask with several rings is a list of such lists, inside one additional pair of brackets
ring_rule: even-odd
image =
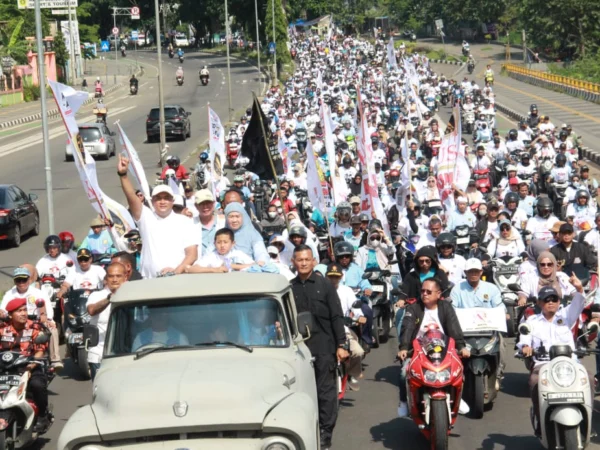
[(46, 171), (46, 195), (48, 197), (48, 234), (54, 234), (54, 200), (52, 197), (52, 168), (50, 163), (50, 138), (48, 137), (48, 111), (46, 107), (46, 70), (44, 67), (44, 43), (42, 42), (41, 0), (35, 0), (35, 39), (38, 51), (38, 78), (42, 106), (42, 138), (44, 141), (44, 170)]

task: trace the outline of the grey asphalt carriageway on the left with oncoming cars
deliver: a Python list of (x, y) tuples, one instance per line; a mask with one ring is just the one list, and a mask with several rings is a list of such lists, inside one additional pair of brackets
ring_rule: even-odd
[[(158, 106), (158, 83), (156, 54), (140, 52), (139, 63), (145, 75), (139, 81), (139, 94), (129, 95), (129, 88), (119, 89), (107, 95), (105, 103), (109, 109), (108, 123), (119, 120), (129, 139), (140, 154), (148, 181), (152, 184), (159, 158), (157, 143), (146, 143), (146, 116), (152, 107)], [(209, 66), (211, 79), (208, 86), (202, 86), (198, 71)], [(228, 119), (227, 65), (222, 56), (206, 53), (190, 53), (183, 64), (185, 82), (177, 86), (176, 59), (163, 56), (165, 104), (179, 104), (192, 112), (192, 137), (185, 142), (169, 140), (170, 153), (178, 155), (182, 162), (208, 138), (207, 103), (219, 114), (223, 124)], [(233, 109), (245, 110), (251, 105), (252, 91), (260, 94), (263, 89), (262, 75), (250, 64), (242, 60), (231, 60), (231, 90)], [(78, 121), (95, 121), (92, 115), (93, 104), (84, 106), (78, 112)], [(237, 118), (239, 119), (239, 117)], [(65, 162), (66, 131), (62, 121), (53, 119), (49, 123), (51, 167), (53, 177), (53, 198), (55, 211), (55, 231), (69, 230), (81, 242), (89, 231), (88, 224), (95, 216), (81, 186), (74, 163)], [(120, 144), (117, 141), (117, 148)], [(184, 162), (186, 167), (194, 166), (195, 160)], [(119, 179), (115, 173), (116, 159), (97, 161), (98, 180), (106, 195), (117, 201), (124, 201)], [(38, 237), (24, 239), (21, 247), (7, 248), (0, 245), (0, 292), (12, 285), (12, 269), (23, 263), (35, 264), (43, 255), (43, 240), (48, 234), (47, 201), (44, 175), (44, 155), (40, 122), (24, 124), (0, 132), (0, 182), (15, 183), (25, 192), (39, 196), (38, 207), (41, 218), (41, 233)]]

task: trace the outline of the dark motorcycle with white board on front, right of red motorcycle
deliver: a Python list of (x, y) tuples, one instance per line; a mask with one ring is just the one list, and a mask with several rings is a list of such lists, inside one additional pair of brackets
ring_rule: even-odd
[(502, 363), (500, 360), (501, 331), (493, 328), (487, 321), (492, 316), (497, 316), (494, 322), (501, 323), (506, 320), (506, 316), (502, 307), (472, 309), (483, 311), (486, 316), (485, 321), (478, 322), (476, 315), (479, 316), (479, 313), (475, 311), (463, 315), (462, 313), (466, 311), (460, 310), (461, 314), (457, 315), (467, 349), (471, 352), (471, 357), (464, 363), (466, 402), (471, 408), (473, 417), (481, 419), (485, 406), (491, 407), (496, 399), (501, 381), (497, 374), (498, 367)]

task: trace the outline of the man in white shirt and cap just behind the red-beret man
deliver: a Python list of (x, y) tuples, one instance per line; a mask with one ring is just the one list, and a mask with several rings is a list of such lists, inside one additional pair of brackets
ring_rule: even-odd
[[(13, 272), (13, 280), (15, 286), (4, 293), (0, 309), (6, 311), (6, 305), (15, 298), (24, 298), (27, 300), (27, 314), (36, 314), (40, 316), (40, 320), (45, 322), (50, 329), (50, 342), (48, 350), (50, 352), (50, 363), (56, 371), (63, 368), (63, 363), (60, 360), (59, 340), (56, 324), (54, 323), (54, 308), (46, 293), (33, 286), (35, 277), (32, 276), (32, 269), (23, 265), (17, 267)], [(38, 300), (43, 300), (45, 306), (39, 308), (36, 304)], [(45, 317), (44, 317), (45, 315)]]

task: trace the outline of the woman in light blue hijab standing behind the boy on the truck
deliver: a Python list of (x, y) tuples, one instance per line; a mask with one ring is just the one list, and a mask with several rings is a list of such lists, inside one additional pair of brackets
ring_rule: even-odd
[(267, 263), (271, 257), (262, 236), (252, 225), (250, 216), (240, 203), (230, 203), (225, 208), (225, 226), (235, 235), (235, 246), (257, 263)]

